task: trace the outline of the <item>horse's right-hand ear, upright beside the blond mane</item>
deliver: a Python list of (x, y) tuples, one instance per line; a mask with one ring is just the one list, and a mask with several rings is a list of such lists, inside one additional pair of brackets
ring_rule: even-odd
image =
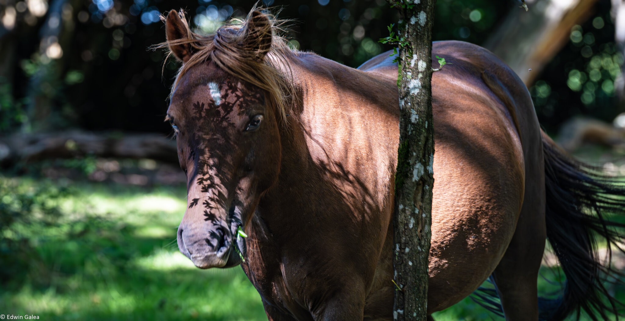
[(247, 17), (243, 31), (243, 42), (247, 50), (251, 50), (258, 60), (264, 59), (271, 49), (271, 21), (266, 14), (254, 10)]

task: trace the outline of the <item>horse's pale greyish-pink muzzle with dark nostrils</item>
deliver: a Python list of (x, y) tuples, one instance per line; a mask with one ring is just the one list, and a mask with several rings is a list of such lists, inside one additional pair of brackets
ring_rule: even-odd
[(178, 248), (200, 269), (225, 267), (232, 248), (232, 236), (224, 228), (214, 231), (178, 228)]

